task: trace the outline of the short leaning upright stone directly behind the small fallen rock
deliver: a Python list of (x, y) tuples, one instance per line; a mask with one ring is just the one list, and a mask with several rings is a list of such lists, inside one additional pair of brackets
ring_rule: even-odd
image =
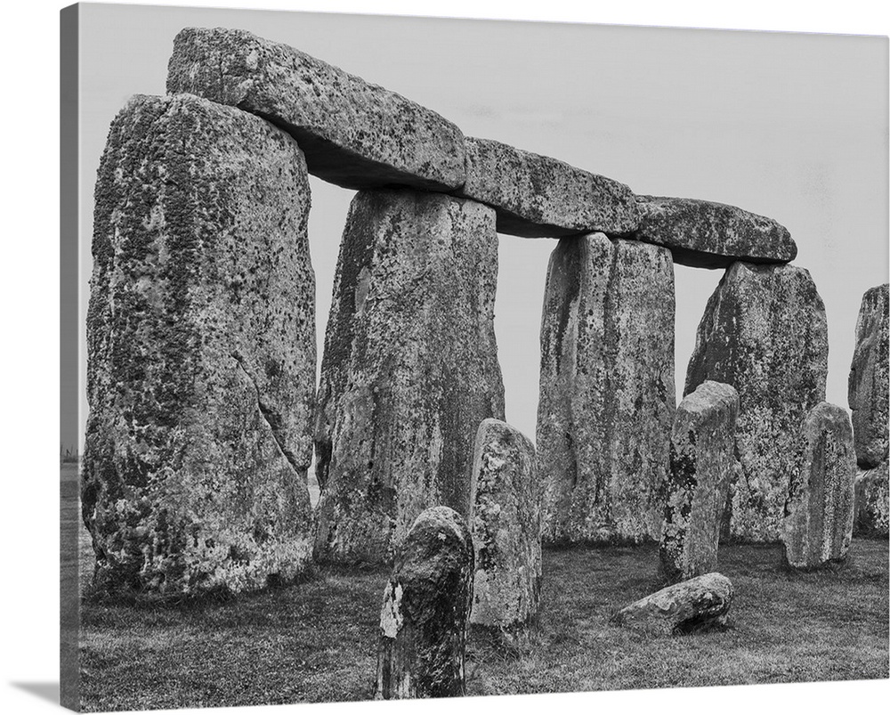
[(735, 459), (739, 393), (707, 380), (676, 408), (665, 483), (665, 519), (659, 546), (668, 581), (709, 573), (717, 546)]

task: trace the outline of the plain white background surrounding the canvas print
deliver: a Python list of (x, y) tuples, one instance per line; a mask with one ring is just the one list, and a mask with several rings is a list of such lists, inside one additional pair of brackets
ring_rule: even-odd
[[(200, 6), (243, 7), (225, 2)], [(611, 3), (584, 8), (547, 3), (263, 2), (261, 7), (325, 12), (383, 12), (522, 20), (564, 20), (680, 27), (747, 28), (886, 35), (886, 9), (872, 2)], [(58, 682), (58, 11), (61, 4), (8, 4), (4, 15), (4, 248), (2, 410), (5, 481), (2, 598), (6, 712), (55, 709)], [(854, 79), (854, 78), (852, 78)], [(497, 137), (494, 137), (497, 138)], [(11, 156), (12, 155), (12, 156)], [(886, 253), (885, 253), (886, 256)], [(886, 259), (885, 259), (886, 260)], [(886, 270), (886, 266), (885, 266)], [(861, 293), (862, 291), (860, 291)], [(682, 379), (684, 365), (678, 365)], [(787, 624), (794, 628), (793, 623)], [(423, 707), (538, 711), (880, 711), (886, 681), (768, 687), (468, 699), (459, 703), (318, 705), (327, 711), (392, 712)], [(278, 706), (294, 711), (301, 706)], [(231, 709), (233, 712), (274, 712)], [(192, 712), (192, 711), (179, 711)], [(198, 711), (194, 711), (198, 712)]]

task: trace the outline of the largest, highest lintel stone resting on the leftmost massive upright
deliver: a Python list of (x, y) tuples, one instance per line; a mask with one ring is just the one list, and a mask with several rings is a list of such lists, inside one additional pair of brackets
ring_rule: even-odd
[(167, 92), (238, 106), (292, 134), (309, 171), (349, 189), (427, 191), (464, 183), (457, 126), (400, 94), (239, 29), (185, 28)]

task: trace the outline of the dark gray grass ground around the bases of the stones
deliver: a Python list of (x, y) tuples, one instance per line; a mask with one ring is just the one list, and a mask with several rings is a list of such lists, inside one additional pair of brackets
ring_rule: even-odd
[[(92, 573), (81, 529), (81, 578)], [(472, 638), (470, 695), (888, 677), (886, 541), (834, 571), (781, 568), (778, 547), (726, 546), (734, 628), (647, 637), (611, 625), (654, 587), (657, 552), (546, 550), (541, 622), (522, 652)], [(369, 698), (385, 569), (324, 568), (223, 602), (81, 608), (86, 711)]]

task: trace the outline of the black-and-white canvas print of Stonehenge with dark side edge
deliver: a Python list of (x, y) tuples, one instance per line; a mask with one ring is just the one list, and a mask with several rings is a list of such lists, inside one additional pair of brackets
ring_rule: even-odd
[(65, 706), (888, 677), (886, 37), (61, 30)]

